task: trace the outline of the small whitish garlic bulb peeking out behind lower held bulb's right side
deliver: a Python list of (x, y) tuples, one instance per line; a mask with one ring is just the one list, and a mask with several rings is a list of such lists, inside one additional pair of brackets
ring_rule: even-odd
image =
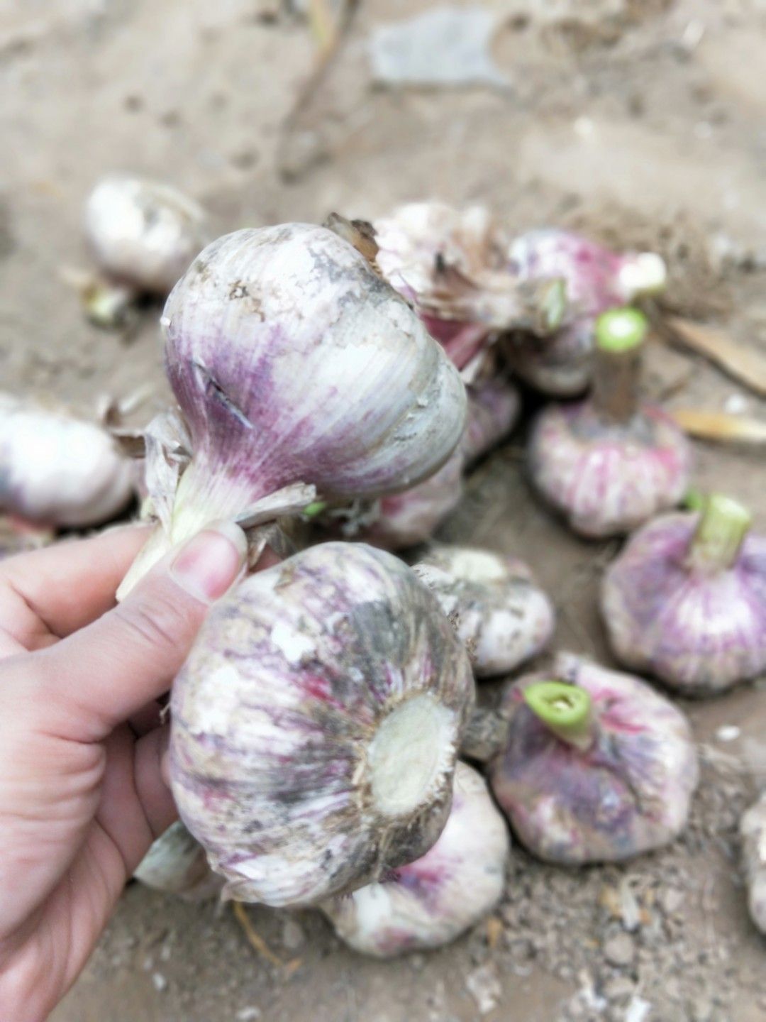
[(414, 571), (465, 643), (477, 678), (502, 675), (539, 653), (554, 608), (522, 561), (471, 547), (437, 547)]

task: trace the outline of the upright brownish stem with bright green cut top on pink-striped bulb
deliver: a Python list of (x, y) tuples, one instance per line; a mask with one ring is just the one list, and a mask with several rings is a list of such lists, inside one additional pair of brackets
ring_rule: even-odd
[(648, 328), (645, 316), (635, 309), (611, 309), (595, 321), (593, 405), (607, 420), (627, 422), (635, 414)]

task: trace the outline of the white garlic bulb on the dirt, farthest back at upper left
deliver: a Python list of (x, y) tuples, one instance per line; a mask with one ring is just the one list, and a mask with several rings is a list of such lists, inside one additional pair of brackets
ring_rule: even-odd
[(162, 296), (209, 239), (200, 205), (169, 185), (129, 174), (97, 182), (85, 204), (85, 233), (108, 276)]

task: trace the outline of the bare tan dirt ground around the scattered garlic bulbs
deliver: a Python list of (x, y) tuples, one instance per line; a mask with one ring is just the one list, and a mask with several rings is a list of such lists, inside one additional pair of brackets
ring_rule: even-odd
[[(486, 202), (518, 228), (565, 223), (655, 246), (673, 308), (766, 347), (763, 0), (482, 0), (508, 90), (375, 86), (371, 31), (429, 6), (365, 0), (295, 112), (314, 46), (279, 0), (0, 0), (2, 385), (92, 408), (149, 382), (162, 400), (156, 310), (130, 336), (100, 332), (61, 276), (87, 265), (82, 202), (113, 169), (176, 183), (222, 232), (330, 210), (370, 219), (438, 196)], [(671, 406), (765, 411), (659, 344), (649, 386)], [(531, 561), (556, 596), (557, 646), (608, 660), (595, 592), (616, 546), (574, 540), (532, 499), (522, 443), (478, 468), (441, 537)], [(699, 445), (697, 476), (766, 526), (762, 450)], [(766, 688), (685, 708), (704, 779), (688, 831), (662, 853), (569, 872), (516, 848), (492, 921), (392, 964), (344, 949), (317, 914), (253, 908), (293, 964), (274, 966), (229, 910), (134, 884), (53, 1019), (766, 1020), (766, 943), (747, 917), (735, 839), (766, 783)]]

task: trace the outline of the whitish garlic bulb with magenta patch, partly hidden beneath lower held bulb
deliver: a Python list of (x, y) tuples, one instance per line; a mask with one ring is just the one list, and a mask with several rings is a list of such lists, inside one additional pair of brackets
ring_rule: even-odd
[(430, 851), (322, 909), (338, 936), (363, 955), (386, 959), (441, 947), (497, 904), (509, 849), (486, 784), (459, 762), (449, 819)]

